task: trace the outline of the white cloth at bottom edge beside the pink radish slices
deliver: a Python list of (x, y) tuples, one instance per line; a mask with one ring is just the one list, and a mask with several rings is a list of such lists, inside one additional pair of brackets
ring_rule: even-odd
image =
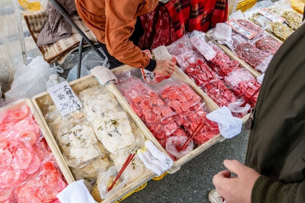
[(84, 180), (75, 181), (57, 194), (62, 203), (98, 203), (84, 184)]

